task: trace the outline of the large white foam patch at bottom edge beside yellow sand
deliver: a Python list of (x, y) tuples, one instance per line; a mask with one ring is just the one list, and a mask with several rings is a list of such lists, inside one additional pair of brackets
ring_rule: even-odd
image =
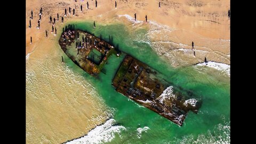
[(69, 144), (74, 143), (106, 143), (115, 138), (117, 133), (121, 136), (121, 131), (126, 130), (124, 126), (115, 125), (115, 119), (109, 119), (105, 124), (95, 127), (88, 134), (81, 138), (66, 142)]

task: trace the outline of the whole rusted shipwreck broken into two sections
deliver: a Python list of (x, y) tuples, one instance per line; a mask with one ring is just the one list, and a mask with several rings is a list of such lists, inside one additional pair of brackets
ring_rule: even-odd
[[(59, 44), (76, 65), (95, 77), (111, 54), (121, 54), (101, 37), (71, 28), (63, 29)], [(117, 92), (180, 126), (189, 110), (197, 113), (201, 107), (201, 101), (191, 96), (193, 93), (170, 86), (156, 70), (127, 54), (112, 85)]]

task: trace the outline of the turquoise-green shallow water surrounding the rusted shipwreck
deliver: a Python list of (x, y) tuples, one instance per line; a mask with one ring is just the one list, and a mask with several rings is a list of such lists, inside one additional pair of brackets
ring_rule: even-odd
[[(75, 27), (89, 31), (96, 36), (108, 40), (113, 36), (113, 43), (120, 50), (163, 74), (166, 81), (183, 89), (193, 91), (197, 98), (202, 99), (202, 107), (198, 114), (189, 112), (183, 126), (178, 126), (168, 119), (154, 113), (145, 107), (140, 107), (124, 95), (115, 91), (111, 81), (122, 62), (125, 54), (117, 58), (110, 56), (98, 78), (87, 74), (65, 55), (67, 65), (88, 79), (98, 90), (108, 107), (114, 109), (114, 119), (117, 125), (126, 128), (121, 137), (116, 137), (109, 143), (229, 143), (230, 135), (230, 81), (211, 69), (199, 71), (194, 67), (172, 68), (160, 58), (148, 43), (138, 42), (134, 37), (145, 36), (147, 28), (129, 31), (129, 26), (122, 23), (101, 26), (93, 29), (93, 22), (75, 23)], [(139, 127), (149, 127), (137, 137)]]

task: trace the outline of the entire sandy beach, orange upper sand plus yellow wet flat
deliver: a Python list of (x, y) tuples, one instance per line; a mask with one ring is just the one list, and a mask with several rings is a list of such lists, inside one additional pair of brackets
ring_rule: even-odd
[[(129, 18), (137, 14), (135, 27), (149, 25), (148, 39), (155, 52), (170, 61), (170, 65), (190, 66), (204, 61), (230, 65), (230, 1), (117, 0), (89, 2), (26, 0), (26, 142), (62, 143), (81, 137), (106, 121), (109, 111), (94, 87), (81, 75), (61, 63), (58, 44), (66, 22), (91, 20), (99, 23), (121, 21), (132, 25)], [(83, 12), (80, 5), (83, 5)], [(37, 29), (39, 9), (43, 8), (41, 29)], [(76, 15), (68, 14), (68, 7), (76, 7)], [(67, 17), (64, 10), (67, 9)], [(29, 17), (33, 10), (34, 19)], [(57, 19), (51, 33), (52, 19)], [(71, 11), (72, 13), (72, 11)], [(147, 14), (148, 22), (145, 22)], [(123, 15), (123, 16), (122, 16)], [(61, 23), (61, 17), (64, 23)], [(157, 25), (155, 24), (157, 23)], [(160, 26), (160, 27), (159, 27)], [(48, 37), (45, 37), (48, 30)], [(30, 44), (30, 36), (33, 43)], [(191, 42), (195, 43), (196, 57)], [(65, 55), (65, 53), (63, 53)], [(66, 56), (66, 55), (65, 55)], [(74, 87), (76, 87), (74, 89)], [(70, 119), (71, 118), (71, 119)]]

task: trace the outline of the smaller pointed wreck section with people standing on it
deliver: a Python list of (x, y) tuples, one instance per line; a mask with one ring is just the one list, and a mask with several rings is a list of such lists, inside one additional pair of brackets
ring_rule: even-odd
[(98, 76), (111, 54), (119, 56), (114, 46), (81, 30), (66, 28), (59, 44), (76, 65), (92, 76)]

